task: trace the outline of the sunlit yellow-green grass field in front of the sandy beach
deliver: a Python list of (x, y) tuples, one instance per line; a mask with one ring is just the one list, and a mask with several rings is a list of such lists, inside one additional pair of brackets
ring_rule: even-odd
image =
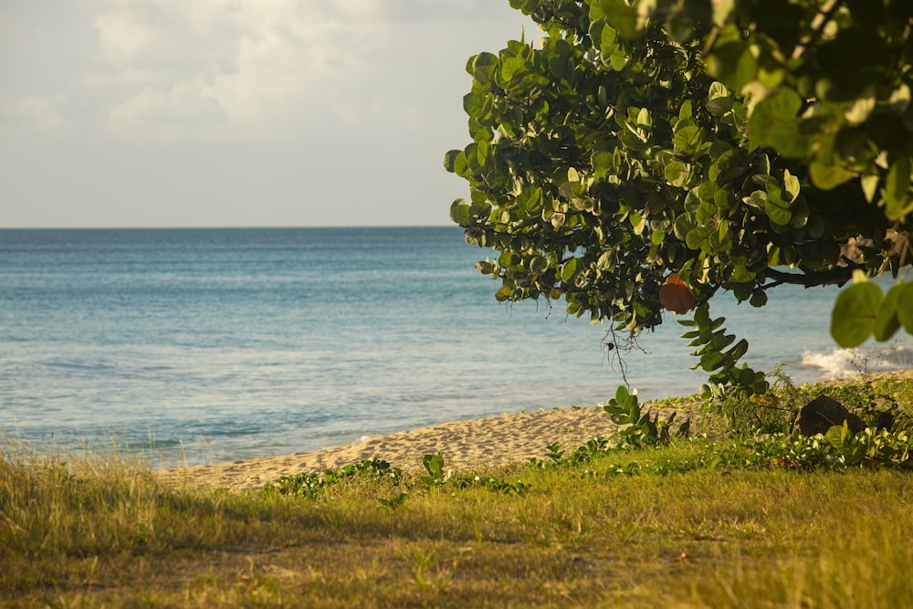
[[(651, 467), (736, 441), (480, 476), (508, 487), (352, 476), (310, 498), (173, 488), (110, 453), (7, 446), (0, 604), (913, 606), (908, 470)], [(605, 473), (635, 460), (640, 475)]]

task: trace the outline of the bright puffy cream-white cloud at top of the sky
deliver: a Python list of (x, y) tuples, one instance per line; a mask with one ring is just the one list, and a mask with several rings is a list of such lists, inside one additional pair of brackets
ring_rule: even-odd
[(343, 116), (334, 100), (391, 32), (382, 0), (113, 2), (94, 23), (107, 70), (91, 81), (126, 86), (110, 127), (129, 138), (206, 135), (216, 123), (283, 134)]

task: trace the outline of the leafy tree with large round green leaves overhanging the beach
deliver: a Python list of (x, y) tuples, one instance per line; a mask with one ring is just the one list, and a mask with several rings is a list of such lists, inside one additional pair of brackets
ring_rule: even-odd
[(445, 156), (498, 300), (564, 299), (628, 346), (693, 308), (709, 389), (767, 386), (709, 313), (724, 292), (855, 280), (836, 341), (913, 333), (913, 285), (864, 280), (913, 257), (907, 0), (511, 5), (545, 37), (469, 59), (472, 142)]

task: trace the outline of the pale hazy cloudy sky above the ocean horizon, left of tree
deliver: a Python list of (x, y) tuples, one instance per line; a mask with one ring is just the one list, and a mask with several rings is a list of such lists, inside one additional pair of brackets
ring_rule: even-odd
[(0, 227), (440, 226), (508, 0), (0, 0)]

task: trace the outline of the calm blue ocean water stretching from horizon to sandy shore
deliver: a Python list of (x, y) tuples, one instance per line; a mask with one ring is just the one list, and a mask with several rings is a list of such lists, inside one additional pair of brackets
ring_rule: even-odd
[[(605, 328), (506, 307), (456, 227), (0, 230), (0, 426), (155, 464), (263, 457), (424, 425), (604, 403)], [(913, 365), (910, 341), (835, 349), (835, 289), (716, 305), (752, 365), (797, 382)], [(682, 328), (626, 360), (645, 398), (692, 394)], [(863, 362), (865, 360), (865, 362)]]

